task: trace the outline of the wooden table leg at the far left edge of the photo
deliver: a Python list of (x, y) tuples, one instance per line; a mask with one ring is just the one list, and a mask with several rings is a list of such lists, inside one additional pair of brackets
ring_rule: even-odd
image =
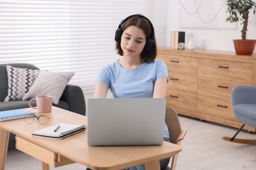
[(9, 131), (0, 129), (0, 169), (5, 169), (5, 161), (9, 144)]

